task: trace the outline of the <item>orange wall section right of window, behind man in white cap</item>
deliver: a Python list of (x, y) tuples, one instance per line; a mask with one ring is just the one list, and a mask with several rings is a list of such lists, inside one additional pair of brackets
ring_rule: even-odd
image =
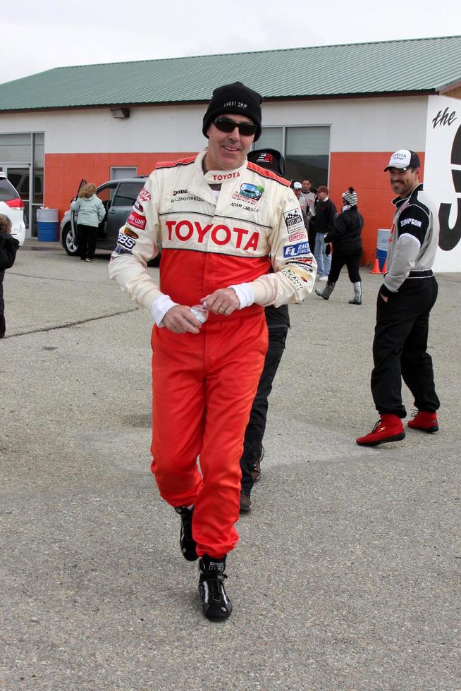
[[(378, 228), (391, 228), (395, 196), (384, 173), (393, 152), (332, 153), (330, 156), (330, 197), (338, 211), (341, 195), (352, 186), (359, 197), (359, 212), (364, 218), (362, 264), (373, 264)], [(420, 154), (424, 169), (424, 154)]]

